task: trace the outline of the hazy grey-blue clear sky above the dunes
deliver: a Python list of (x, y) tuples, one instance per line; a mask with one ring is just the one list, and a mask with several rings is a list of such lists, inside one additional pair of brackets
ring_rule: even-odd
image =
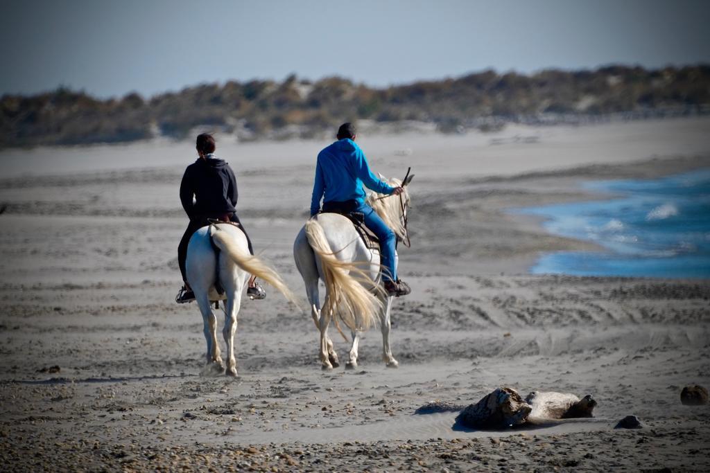
[(710, 64), (706, 0), (2, 0), (1, 94)]

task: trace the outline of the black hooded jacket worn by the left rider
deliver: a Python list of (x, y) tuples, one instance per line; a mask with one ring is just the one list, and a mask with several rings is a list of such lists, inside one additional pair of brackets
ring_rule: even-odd
[(204, 160), (198, 157), (182, 175), (180, 201), (190, 219), (235, 212), (237, 195), (234, 171), (214, 155), (207, 155)]

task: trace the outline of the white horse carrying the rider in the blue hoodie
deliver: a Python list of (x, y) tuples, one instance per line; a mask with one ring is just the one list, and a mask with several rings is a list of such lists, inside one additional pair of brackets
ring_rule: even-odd
[[(405, 179), (403, 187), (411, 179)], [(388, 184), (396, 187), (401, 182), (390, 179)], [(400, 196), (370, 194), (366, 200), (397, 238), (403, 241), (408, 239), (405, 222), (410, 199), (406, 189)], [(312, 217), (296, 237), (293, 257), (306, 286), (311, 316), (320, 330), (322, 369), (340, 365), (328, 336), (331, 318), (341, 334), (341, 321), (351, 330), (352, 344), (346, 368), (357, 366), (361, 331), (377, 322), (382, 332), (383, 360), (388, 367), (398, 367), (399, 362), (392, 356), (390, 348), (393, 297), (387, 296), (381, 287), (380, 252), (366, 247), (349, 218), (337, 213), (319, 213)], [(397, 261), (395, 255), (395, 264)], [(322, 308), (319, 280), (325, 285)]]

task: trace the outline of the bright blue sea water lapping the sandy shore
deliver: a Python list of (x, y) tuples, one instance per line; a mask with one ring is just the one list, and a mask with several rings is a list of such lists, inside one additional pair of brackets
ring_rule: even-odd
[(710, 169), (585, 187), (618, 198), (518, 211), (547, 218), (551, 233), (606, 251), (549, 253), (532, 273), (710, 278)]

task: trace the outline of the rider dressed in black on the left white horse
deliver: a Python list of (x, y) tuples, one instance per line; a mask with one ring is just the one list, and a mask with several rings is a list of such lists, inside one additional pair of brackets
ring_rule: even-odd
[[(234, 171), (224, 161), (214, 156), (214, 138), (208, 133), (197, 136), (197, 154), (200, 157), (185, 169), (185, 174), (180, 182), (180, 201), (185, 213), (190, 217), (190, 224), (182, 235), (180, 245), (178, 245), (178, 265), (185, 286), (180, 289), (175, 301), (178, 304), (195, 300), (195, 294), (187, 284), (185, 277), (185, 260), (187, 260), (187, 243), (190, 243), (192, 234), (197, 229), (209, 225), (209, 218), (214, 218), (226, 222), (234, 222), (239, 225), (246, 241), (249, 243), (249, 252), (253, 255), (251, 240), (246, 230), (241, 225), (239, 217), (236, 216), (236, 178)], [(193, 201), (193, 196), (195, 197)], [(246, 294), (251, 299), (263, 299), (266, 292), (256, 283), (256, 277), (249, 279), (249, 288)]]

